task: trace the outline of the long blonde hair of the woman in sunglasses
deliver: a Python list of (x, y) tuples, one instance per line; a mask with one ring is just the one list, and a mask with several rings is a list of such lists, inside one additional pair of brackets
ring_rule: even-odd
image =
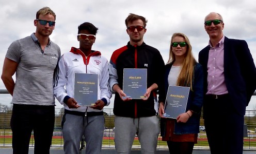
[[(190, 90), (193, 91), (192, 88), (192, 83), (193, 83), (193, 78), (194, 78), (194, 65), (196, 64), (196, 60), (192, 54), (192, 47), (190, 45), (190, 42), (187, 38), (187, 36), (183, 33), (174, 33), (171, 36), (171, 43), (173, 41), (173, 38), (175, 36), (181, 36), (185, 39), (185, 42), (187, 44), (187, 51), (185, 53), (185, 58), (182, 63), (182, 69), (181, 72), (178, 76), (177, 80), (177, 86), (186, 86), (190, 87)], [(173, 63), (175, 61), (175, 55), (172, 52), (172, 46), (170, 44), (170, 51), (169, 51), (169, 60), (167, 64)]]

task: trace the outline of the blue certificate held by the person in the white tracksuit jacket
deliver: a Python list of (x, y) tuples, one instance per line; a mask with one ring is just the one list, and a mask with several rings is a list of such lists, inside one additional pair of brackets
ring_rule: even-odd
[(94, 105), (98, 100), (98, 74), (75, 73), (74, 99), (78, 105)]

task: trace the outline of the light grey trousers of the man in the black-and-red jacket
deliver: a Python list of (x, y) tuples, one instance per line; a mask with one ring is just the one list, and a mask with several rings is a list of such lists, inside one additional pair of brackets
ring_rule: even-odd
[(116, 153), (131, 153), (131, 148), (136, 133), (141, 145), (141, 153), (155, 153), (159, 131), (159, 119), (156, 117), (156, 115), (141, 118), (116, 116)]

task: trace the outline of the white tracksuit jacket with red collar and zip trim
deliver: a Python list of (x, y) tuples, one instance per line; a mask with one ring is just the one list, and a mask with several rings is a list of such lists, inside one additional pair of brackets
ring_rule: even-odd
[[(85, 106), (78, 107), (77, 109), (70, 109), (65, 103), (66, 98), (74, 98), (74, 76), (75, 73), (90, 73), (98, 74), (98, 100), (103, 100), (104, 103), (109, 105), (111, 98), (111, 91), (108, 85), (108, 61), (105, 57), (101, 56), (101, 52), (92, 51), (91, 54), (85, 56), (85, 54), (72, 47), (71, 51), (61, 56), (58, 67), (55, 70), (56, 79), (54, 81), (54, 95), (56, 99), (64, 105), (65, 109), (72, 111), (85, 112)], [(66, 89), (65, 89), (66, 87)], [(88, 107), (87, 112), (101, 111)]]

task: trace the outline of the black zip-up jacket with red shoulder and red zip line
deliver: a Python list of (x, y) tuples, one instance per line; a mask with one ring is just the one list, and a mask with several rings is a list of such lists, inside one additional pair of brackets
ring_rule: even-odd
[[(152, 84), (157, 84), (158, 89), (164, 87), (164, 60), (160, 52), (146, 45), (144, 42), (140, 46), (132, 46), (130, 42), (113, 52), (109, 62), (109, 83), (113, 87), (118, 84), (123, 87), (124, 68), (147, 68), (147, 88)], [(165, 100), (164, 90), (159, 90), (159, 102)], [(162, 93), (164, 92), (164, 93)], [(114, 101), (114, 114), (121, 117), (150, 117), (156, 115), (154, 103), (156, 90), (151, 91), (147, 101), (131, 100), (124, 102), (116, 92)]]

